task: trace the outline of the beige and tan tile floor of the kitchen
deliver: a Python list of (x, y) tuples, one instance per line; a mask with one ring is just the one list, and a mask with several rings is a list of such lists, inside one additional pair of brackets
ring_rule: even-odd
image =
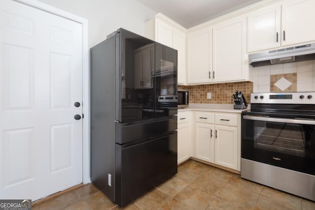
[[(120, 210), (92, 183), (32, 206), (32, 210)], [(315, 202), (194, 160), (125, 210), (315, 210)]]

